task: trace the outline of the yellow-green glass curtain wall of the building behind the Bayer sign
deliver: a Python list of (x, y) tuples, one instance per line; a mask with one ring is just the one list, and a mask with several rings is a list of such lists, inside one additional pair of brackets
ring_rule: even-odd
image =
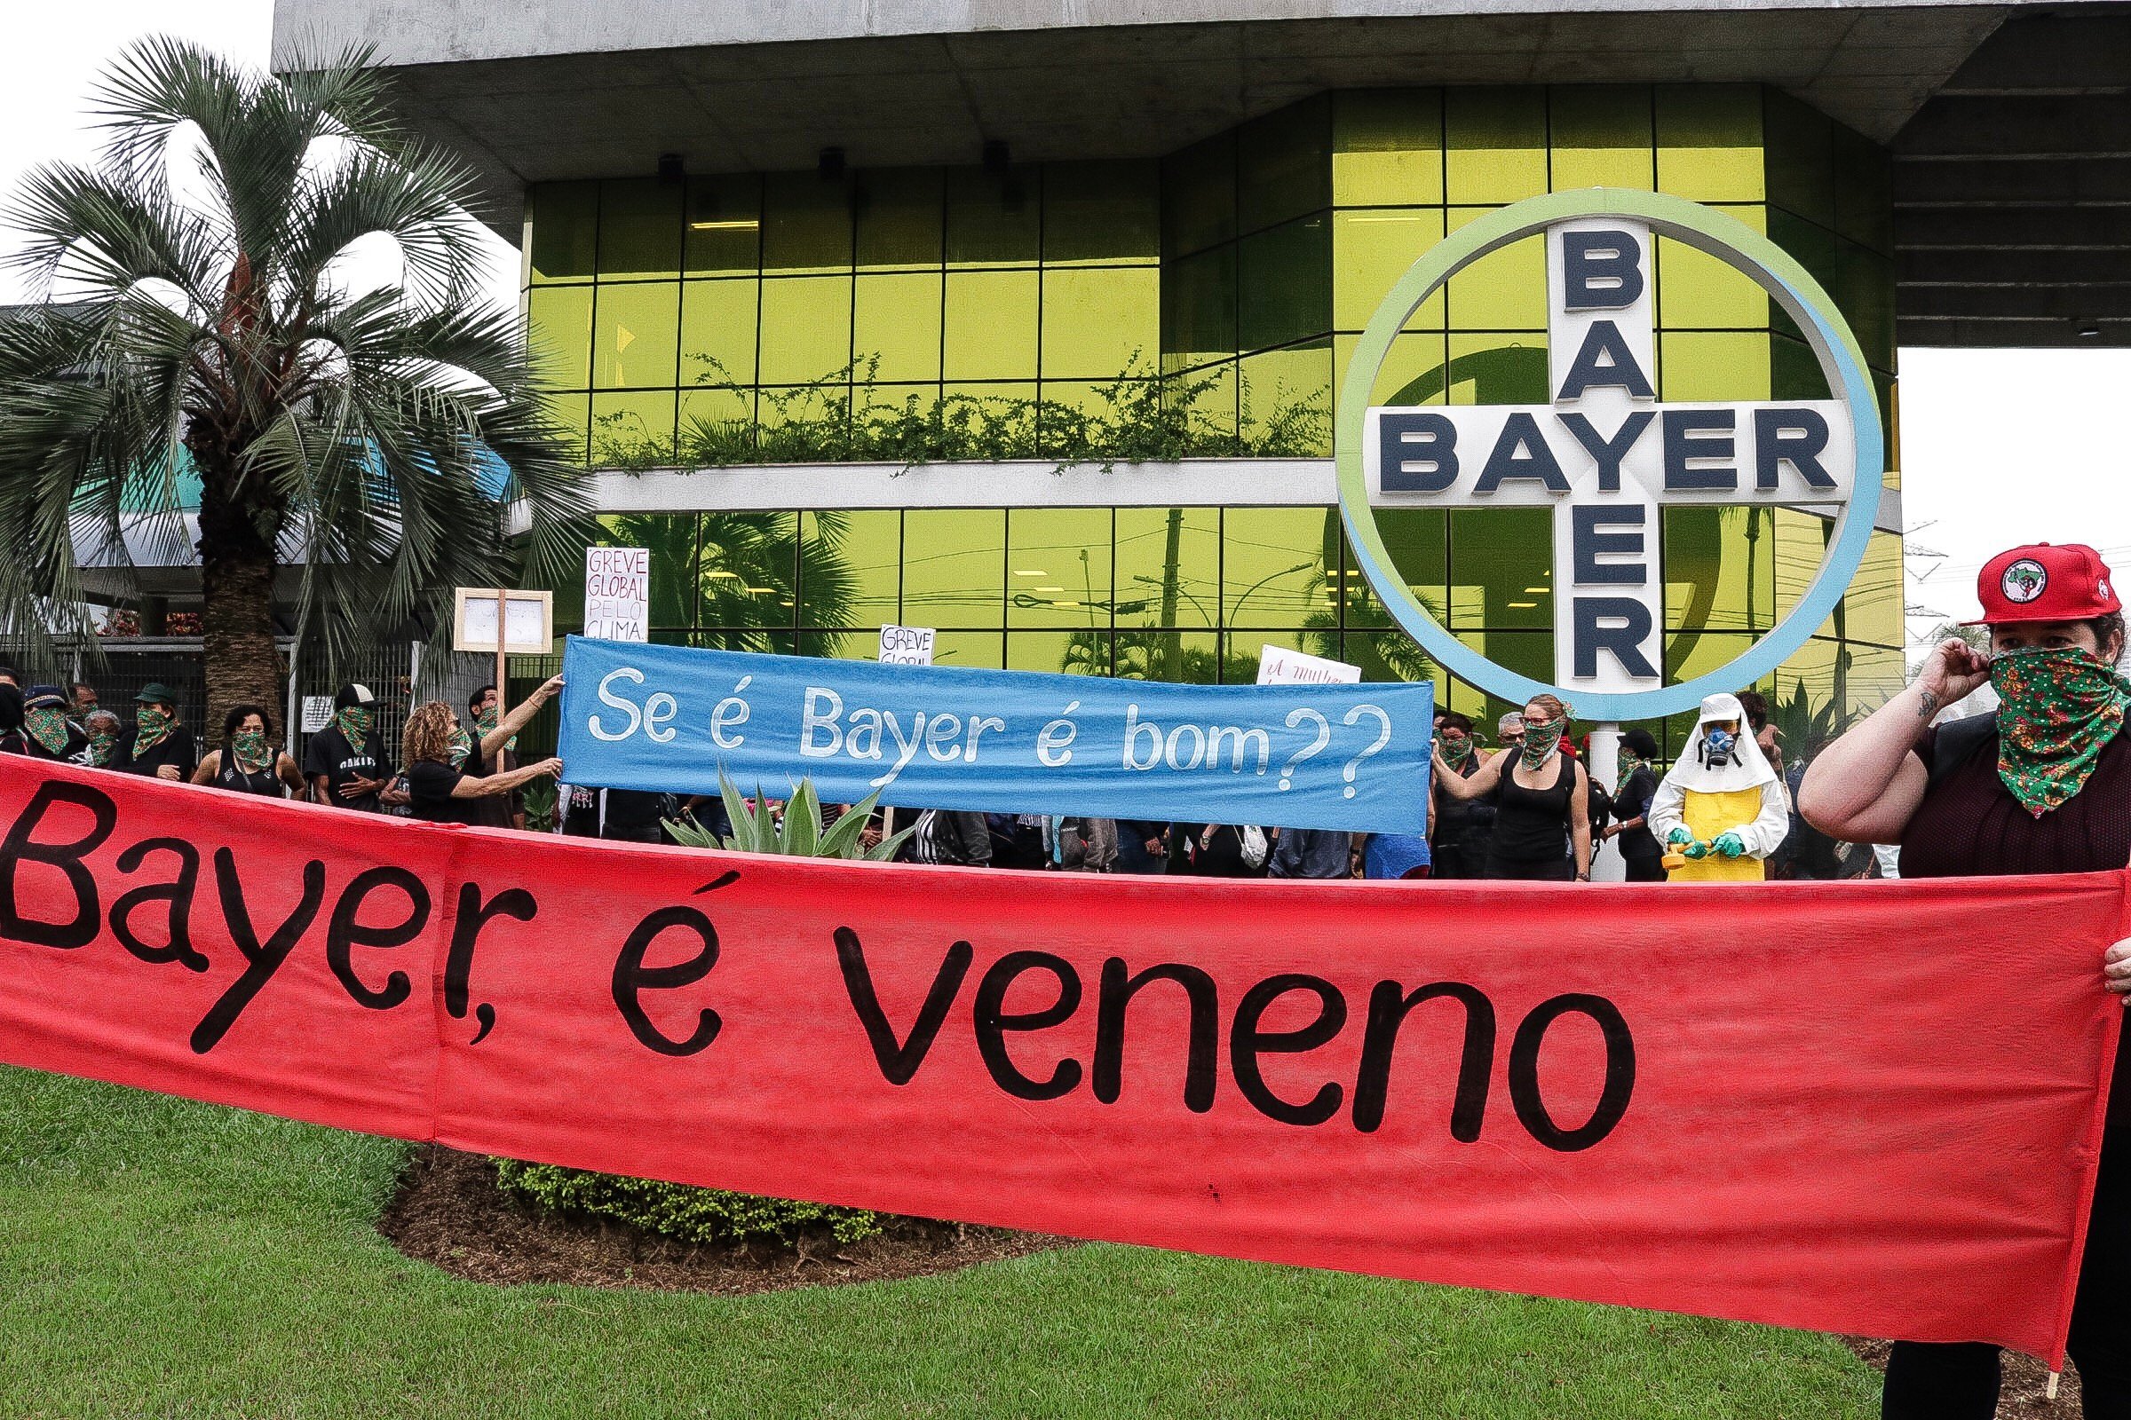
[[(554, 409), (595, 462), (603, 443), (671, 451), (693, 422), (774, 426), (833, 400), (1087, 409), (1106, 381), (1157, 370), (1202, 430), (1330, 453), (1338, 379), (1392, 281), (1490, 209), (1590, 185), (1709, 202), (1792, 251), (1856, 328), (1892, 432), (1886, 153), (1756, 85), (1336, 92), (1161, 162), (541, 185), (526, 311)], [(1660, 241), (1656, 287), (1662, 398), (1826, 394), (1750, 279)], [(1374, 396), (1543, 400), (1545, 345), (1530, 238), (1415, 313)], [(1549, 677), (1543, 511), (1381, 522), (1441, 620)], [(1666, 511), (1669, 671), (1698, 675), (1773, 626), (1828, 526)], [(938, 626), (955, 664), (1251, 679), (1259, 645), (1283, 643), (1370, 677), (1438, 675), (1321, 507), (673, 513), (609, 532), (652, 547), (671, 641), (869, 654), (865, 630), (899, 620)], [(1875, 705), (1901, 683), (1901, 543), (1875, 534), (1837, 615), (1762, 690)], [(558, 594), (565, 613), (573, 592)], [(1504, 709), (1464, 686), (1443, 696)]]

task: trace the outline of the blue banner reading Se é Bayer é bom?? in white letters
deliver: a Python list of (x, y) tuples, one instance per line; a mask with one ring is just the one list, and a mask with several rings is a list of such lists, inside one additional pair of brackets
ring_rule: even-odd
[(586, 641), (563, 777), (906, 809), (1426, 832), (1434, 686), (1170, 686)]

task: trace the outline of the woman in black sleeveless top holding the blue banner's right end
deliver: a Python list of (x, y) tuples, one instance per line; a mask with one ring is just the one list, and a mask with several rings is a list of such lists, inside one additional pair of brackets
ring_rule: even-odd
[[(1502, 720), (1507, 739), (1509, 717)], [(1566, 705), (1551, 694), (1532, 696), (1524, 707), (1522, 747), (1498, 749), (1470, 777), (1451, 771), (1436, 747), (1434, 775), (1445, 794), (1470, 800), (1496, 792), (1485, 877), (1590, 881), (1590, 775), (1562, 754), (1566, 724)]]

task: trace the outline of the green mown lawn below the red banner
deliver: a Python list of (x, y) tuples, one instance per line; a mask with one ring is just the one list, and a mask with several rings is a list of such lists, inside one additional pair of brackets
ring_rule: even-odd
[(0, 1416), (1869, 1416), (1828, 1337), (1138, 1248), (707, 1299), (486, 1288), (396, 1143), (0, 1069)]

